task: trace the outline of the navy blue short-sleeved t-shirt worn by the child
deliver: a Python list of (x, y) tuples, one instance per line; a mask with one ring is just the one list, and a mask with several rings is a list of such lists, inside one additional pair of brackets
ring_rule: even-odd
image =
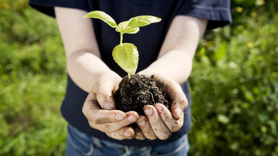
[[(30, 0), (29, 4), (35, 9), (53, 17), (55, 17), (54, 7), (57, 6), (81, 9), (88, 12), (95, 10), (104, 11), (116, 23), (140, 15), (153, 15), (162, 18), (161, 22), (141, 27), (140, 31), (136, 34), (124, 34), (123, 42), (133, 43), (138, 47), (139, 63), (137, 72), (156, 61), (169, 25), (175, 16), (188, 15), (207, 19), (209, 20), (207, 29), (224, 26), (232, 21), (230, 0)], [(115, 32), (115, 29), (105, 22), (99, 19), (92, 20), (102, 61), (120, 76), (125, 76), (126, 72), (115, 63), (112, 57), (113, 48), (118, 45), (120, 34)], [(189, 101), (185, 112), (190, 113), (191, 100), (188, 82), (182, 85), (182, 89)], [(177, 132), (173, 132), (167, 140), (145, 139), (140, 141), (135, 138), (131, 140), (115, 140), (89, 126), (87, 119), (82, 113), (82, 106), (87, 95), (88, 93), (79, 88), (68, 76), (68, 86), (61, 108), (62, 115), (69, 124), (80, 131), (102, 140), (129, 146), (156, 146), (173, 142), (190, 129), (191, 117), (185, 114), (182, 128)]]

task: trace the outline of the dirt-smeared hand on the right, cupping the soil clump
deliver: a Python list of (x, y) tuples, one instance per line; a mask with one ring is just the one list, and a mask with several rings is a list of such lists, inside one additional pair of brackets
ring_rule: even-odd
[(149, 140), (169, 138), (172, 132), (178, 131), (183, 125), (183, 110), (188, 105), (187, 98), (177, 82), (160, 74), (155, 74), (152, 78), (163, 84), (163, 91), (172, 100), (171, 111), (161, 103), (146, 105), (146, 117), (140, 115), (136, 122), (138, 127), (135, 128), (135, 138), (138, 140), (144, 140), (145, 137)]

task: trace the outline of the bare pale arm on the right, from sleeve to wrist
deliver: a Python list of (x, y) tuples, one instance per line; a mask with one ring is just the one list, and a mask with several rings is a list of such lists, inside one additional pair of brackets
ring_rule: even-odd
[(192, 60), (207, 26), (207, 20), (176, 16), (171, 23), (158, 59), (140, 74), (163, 74), (183, 84), (192, 70)]

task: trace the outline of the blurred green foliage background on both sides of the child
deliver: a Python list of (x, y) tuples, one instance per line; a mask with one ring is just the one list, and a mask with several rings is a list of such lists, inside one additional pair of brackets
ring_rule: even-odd
[[(278, 3), (233, 0), (189, 79), (190, 155), (278, 155)], [(66, 60), (55, 19), (0, 0), (0, 155), (63, 155)]]

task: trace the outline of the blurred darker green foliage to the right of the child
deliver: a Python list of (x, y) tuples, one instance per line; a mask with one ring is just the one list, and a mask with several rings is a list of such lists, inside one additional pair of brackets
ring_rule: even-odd
[(278, 155), (278, 3), (232, 4), (194, 58), (190, 155)]

